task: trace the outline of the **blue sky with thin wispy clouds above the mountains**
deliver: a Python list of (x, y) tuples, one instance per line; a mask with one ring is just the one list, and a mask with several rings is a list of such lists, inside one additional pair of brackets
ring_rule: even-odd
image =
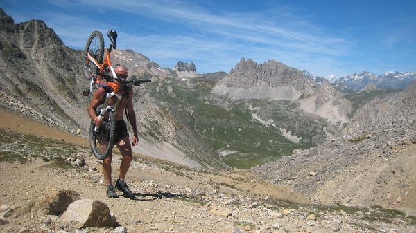
[[(416, 1), (0, 0), (16, 23), (41, 19), (71, 48), (89, 34), (119, 33), (165, 68), (229, 72), (241, 57), (327, 77), (416, 71)], [(107, 37), (106, 46), (108, 44)]]

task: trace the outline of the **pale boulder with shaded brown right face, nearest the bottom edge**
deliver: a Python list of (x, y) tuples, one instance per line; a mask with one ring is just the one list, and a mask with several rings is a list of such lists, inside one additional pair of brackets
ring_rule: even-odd
[(74, 201), (62, 214), (60, 221), (80, 223), (81, 227), (112, 227), (110, 209), (101, 201), (83, 199)]

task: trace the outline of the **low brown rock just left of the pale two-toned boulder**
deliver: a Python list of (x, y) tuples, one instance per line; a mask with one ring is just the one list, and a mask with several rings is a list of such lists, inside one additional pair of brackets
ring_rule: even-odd
[(21, 216), (24, 214), (31, 214), (31, 216), (48, 215), (48, 214), (62, 214), (69, 204), (80, 199), (80, 195), (72, 190), (59, 190), (47, 196), (41, 201), (34, 201), (11, 209), (4, 217)]

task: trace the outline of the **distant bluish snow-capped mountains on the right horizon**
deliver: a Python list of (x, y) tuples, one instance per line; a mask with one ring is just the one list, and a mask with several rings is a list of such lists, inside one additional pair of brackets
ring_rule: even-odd
[(345, 77), (327, 78), (327, 80), (331, 84), (347, 86), (355, 91), (361, 91), (369, 84), (374, 84), (376, 88), (402, 89), (406, 88), (410, 82), (416, 80), (416, 73), (388, 71), (382, 75), (374, 75), (367, 71), (361, 71)]

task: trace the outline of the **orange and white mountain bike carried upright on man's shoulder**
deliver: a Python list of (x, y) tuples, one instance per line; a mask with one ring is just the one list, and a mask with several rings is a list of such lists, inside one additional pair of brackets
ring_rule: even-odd
[[(117, 47), (117, 32), (108, 30), (107, 35), (111, 43), (104, 57), (103, 34), (99, 31), (91, 33), (85, 46), (85, 60), (83, 64), (84, 75), (87, 80), (90, 80), (89, 89), (83, 91), (83, 95), (89, 96), (94, 86), (103, 86), (108, 90), (106, 91), (102, 104), (96, 108), (96, 115), (98, 115), (98, 118), (103, 123), (98, 127), (94, 124), (94, 120), (92, 120), (89, 125), (89, 144), (92, 153), (99, 160), (103, 160), (109, 156), (114, 147), (114, 137), (116, 134), (114, 114), (122, 97), (122, 95), (119, 95), (119, 91), (123, 86), (140, 86), (140, 84), (145, 82), (151, 82), (151, 80), (140, 80), (135, 75), (128, 81), (117, 77), (110, 59), (112, 49)], [(117, 100), (114, 106), (110, 106), (108, 102), (113, 97), (116, 97)]]

